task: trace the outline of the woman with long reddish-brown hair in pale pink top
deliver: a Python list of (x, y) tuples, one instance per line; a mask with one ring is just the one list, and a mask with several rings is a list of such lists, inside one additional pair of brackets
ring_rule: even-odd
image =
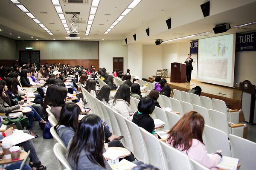
[(180, 150), (207, 168), (214, 168), (221, 160), (221, 152), (217, 150), (207, 154), (203, 142), (204, 118), (195, 111), (185, 113), (168, 132), (166, 143)]

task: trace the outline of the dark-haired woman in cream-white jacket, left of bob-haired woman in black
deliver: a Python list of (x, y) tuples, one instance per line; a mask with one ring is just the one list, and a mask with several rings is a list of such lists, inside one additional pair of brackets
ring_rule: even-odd
[(131, 111), (130, 105), (130, 88), (128, 85), (120, 85), (114, 99), (109, 101), (110, 107), (124, 116), (126, 119), (132, 120), (133, 112)]

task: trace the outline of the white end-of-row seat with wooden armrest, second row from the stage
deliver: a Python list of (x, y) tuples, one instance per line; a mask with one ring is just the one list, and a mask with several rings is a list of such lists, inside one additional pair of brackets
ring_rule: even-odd
[(243, 124), (233, 124), (227, 122), (227, 116), (224, 113), (209, 109), (209, 115), (212, 127), (218, 130), (222, 130), (227, 135), (233, 134), (236, 136), (243, 137), (244, 125)]

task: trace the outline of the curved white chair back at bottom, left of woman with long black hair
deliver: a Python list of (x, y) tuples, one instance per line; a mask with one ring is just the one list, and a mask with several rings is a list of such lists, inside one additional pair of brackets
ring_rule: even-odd
[(72, 170), (72, 167), (70, 166), (70, 164), (68, 163), (65, 157), (67, 150), (60, 143), (56, 143), (54, 145), (53, 152), (61, 164), (61, 167), (59, 167), (60, 170), (64, 170), (64, 169)]

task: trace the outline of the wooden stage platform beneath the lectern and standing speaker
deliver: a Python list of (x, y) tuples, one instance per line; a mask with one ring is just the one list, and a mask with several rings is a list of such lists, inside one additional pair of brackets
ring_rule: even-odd
[[(148, 82), (154, 82), (154, 77), (149, 77), (148, 79), (143, 79)], [(212, 85), (205, 82), (199, 82), (197, 80), (191, 79), (190, 83), (177, 83), (170, 82), (170, 78), (165, 78), (167, 80), (167, 85), (171, 89), (175, 88), (180, 91), (188, 92), (190, 89), (195, 86), (200, 86), (202, 88), (202, 96), (207, 96), (209, 98), (221, 99), (224, 100), (227, 104), (227, 107), (230, 109), (241, 109), (241, 95), (242, 92), (236, 88), (229, 88), (219, 85)]]

